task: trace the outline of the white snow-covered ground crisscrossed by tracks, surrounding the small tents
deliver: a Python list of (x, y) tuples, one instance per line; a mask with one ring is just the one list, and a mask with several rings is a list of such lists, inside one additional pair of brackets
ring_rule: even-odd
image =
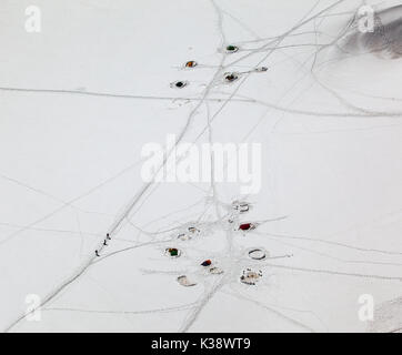
[[(40, 33), (24, 29), (31, 4), (0, 6), (1, 329), (402, 327), (402, 67), (365, 48), (370, 34), (344, 38), (360, 1), (36, 0)], [(227, 71), (244, 73), (225, 84)], [(261, 191), (147, 185), (142, 146), (180, 132), (261, 143)], [(234, 232), (225, 216), (241, 199), (252, 210), (240, 221), (287, 217)], [(200, 235), (178, 241), (194, 221)], [(182, 256), (167, 257), (172, 246)], [(247, 267), (263, 272), (255, 286), (239, 282)], [(40, 322), (24, 317), (30, 294)], [(359, 318), (364, 294), (373, 322)]]

